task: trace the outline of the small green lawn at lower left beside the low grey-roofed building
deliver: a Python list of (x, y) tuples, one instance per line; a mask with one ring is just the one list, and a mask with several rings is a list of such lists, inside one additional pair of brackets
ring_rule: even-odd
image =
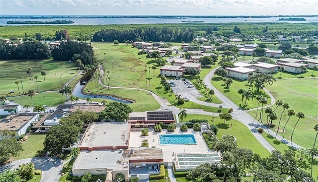
[(17, 157), (12, 157), (12, 161), (35, 157), (36, 151), (43, 149), (45, 134), (30, 134), (27, 140), (22, 143), (23, 151)]

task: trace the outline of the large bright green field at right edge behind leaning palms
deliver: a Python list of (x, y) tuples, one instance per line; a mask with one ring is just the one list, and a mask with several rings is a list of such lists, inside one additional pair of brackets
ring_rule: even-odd
[[(271, 92), (274, 98), (283, 100), (284, 103), (290, 105), (290, 109), (305, 114), (305, 119), (301, 119), (295, 129), (293, 135), (293, 142), (305, 147), (310, 148), (314, 144), (316, 131), (314, 130), (315, 124), (318, 123), (318, 79), (288, 79), (277, 80), (272, 86), (268, 86), (267, 89)], [(276, 105), (272, 106), (273, 109)], [(280, 117), (283, 109), (279, 107), (275, 113)], [(256, 115), (256, 111), (248, 112), (252, 117)], [(287, 111), (285, 111), (280, 129), (283, 129), (284, 124), (288, 119)], [(290, 139), (292, 130), (298, 118), (296, 116), (291, 117), (290, 121), (286, 125), (286, 133), (284, 136)], [(273, 121), (273, 130), (276, 131), (278, 126), (278, 120)], [(282, 135), (282, 133), (279, 133)]]

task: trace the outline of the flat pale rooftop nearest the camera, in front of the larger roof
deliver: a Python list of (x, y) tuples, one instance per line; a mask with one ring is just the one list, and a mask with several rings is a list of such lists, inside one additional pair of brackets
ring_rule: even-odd
[(128, 170), (128, 160), (122, 158), (122, 152), (121, 150), (80, 151), (74, 162), (73, 170), (100, 168)]

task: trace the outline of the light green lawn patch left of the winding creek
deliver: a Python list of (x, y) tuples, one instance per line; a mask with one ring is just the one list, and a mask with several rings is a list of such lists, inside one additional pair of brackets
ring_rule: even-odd
[[(11, 99), (21, 105), (29, 104), (30, 106), (32, 106), (31, 97), (27, 95), (9, 98), (9, 100)], [(46, 104), (48, 107), (54, 107), (58, 106), (59, 104), (64, 104), (65, 99), (66, 97), (59, 92), (38, 93), (33, 96), (33, 105), (42, 106), (43, 104)]]

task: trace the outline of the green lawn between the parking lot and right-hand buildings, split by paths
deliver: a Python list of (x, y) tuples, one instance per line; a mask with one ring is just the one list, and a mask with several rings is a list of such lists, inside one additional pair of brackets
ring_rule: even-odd
[[(241, 101), (241, 94), (238, 93), (239, 89), (244, 89), (244, 90), (248, 90), (249, 87), (247, 85), (247, 80), (238, 80), (235, 78), (233, 79), (233, 83), (231, 84), (229, 89), (225, 88), (224, 85), (224, 81), (222, 81), (223, 77), (219, 77), (217, 75), (213, 76), (211, 83), (213, 86), (215, 86), (215, 88), (217, 88), (219, 91), (221, 91), (226, 97), (228, 97), (232, 102), (234, 102), (236, 105), (238, 105), (239, 107), (244, 107), (244, 109), (252, 109), (252, 108), (256, 108), (257, 107), (257, 103), (258, 101), (256, 99), (253, 100), (247, 100), (246, 102), (246, 106), (244, 106), (245, 103), (245, 99), (243, 100), (243, 102)], [(277, 83), (274, 83), (273, 85), (275, 85)], [(265, 88), (267, 88), (268, 86), (266, 86)], [(266, 95), (268, 102), (266, 105), (270, 104), (271, 99), (270, 97), (263, 91), (260, 90), (259, 93), (256, 92), (256, 89), (251, 88), (254, 96), (257, 94), (262, 94), (262, 95)], [(265, 105), (264, 105), (265, 106)]]

